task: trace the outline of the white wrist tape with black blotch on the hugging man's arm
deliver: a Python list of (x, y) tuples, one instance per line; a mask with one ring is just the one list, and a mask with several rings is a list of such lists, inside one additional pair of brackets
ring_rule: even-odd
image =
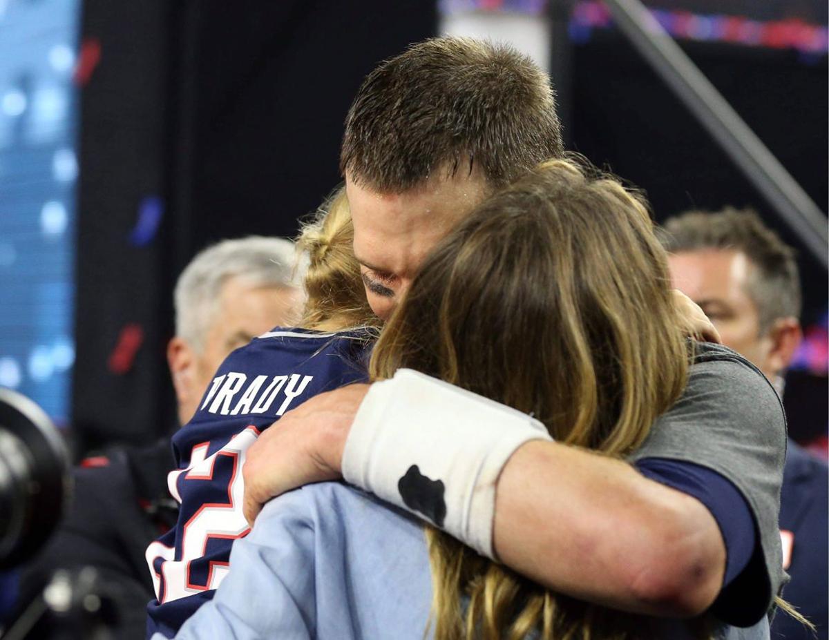
[(516, 448), (530, 440), (551, 440), (538, 420), (400, 369), (371, 385), (362, 401), (342, 475), (494, 558), (496, 482)]

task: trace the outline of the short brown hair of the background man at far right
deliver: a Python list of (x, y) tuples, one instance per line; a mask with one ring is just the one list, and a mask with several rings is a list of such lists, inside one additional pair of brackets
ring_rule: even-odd
[(662, 244), (671, 253), (705, 249), (734, 250), (754, 264), (746, 293), (759, 314), (764, 334), (779, 318), (800, 315), (800, 278), (795, 251), (750, 209), (686, 211), (669, 219)]

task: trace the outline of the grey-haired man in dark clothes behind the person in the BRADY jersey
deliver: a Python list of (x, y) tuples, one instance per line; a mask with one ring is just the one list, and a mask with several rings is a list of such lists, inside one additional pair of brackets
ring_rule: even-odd
[[(276, 325), (293, 325), (303, 301), (295, 284), (293, 243), (250, 236), (213, 245), (187, 265), (175, 290), (176, 336), (167, 361), (185, 424), (231, 351)], [(144, 638), (154, 597), (144, 550), (175, 524), (169, 497), (170, 439), (115, 448), (74, 472), (75, 500), (36, 562), (21, 595), (34, 597), (56, 569), (94, 567), (118, 606), (117, 638)]]

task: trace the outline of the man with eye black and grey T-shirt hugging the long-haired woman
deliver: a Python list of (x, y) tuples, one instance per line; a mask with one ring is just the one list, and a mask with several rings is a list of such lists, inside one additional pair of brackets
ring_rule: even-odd
[[(419, 43), (366, 78), (347, 117), (342, 171), (379, 316), (471, 206), (562, 153), (548, 82), (516, 52), (463, 39)], [(731, 352), (692, 367), (685, 397), (635, 456), (668, 461), (652, 465), (654, 482), (518, 426), (499, 439), (502, 412), (460, 391), (441, 405), (402, 378), (352, 385), (308, 400), (249, 449), (245, 510), (253, 517), (269, 497), (341, 473), (405, 507), (398, 482), (428, 460), (441, 468), (444, 529), (482, 554), (577, 598), (658, 616), (712, 611), (768, 637), (764, 614), (783, 580), (784, 429), (767, 387)], [(735, 435), (746, 420), (759, 424), (758, 447)], [(700, 479), (696, 489), (689, 478)]]

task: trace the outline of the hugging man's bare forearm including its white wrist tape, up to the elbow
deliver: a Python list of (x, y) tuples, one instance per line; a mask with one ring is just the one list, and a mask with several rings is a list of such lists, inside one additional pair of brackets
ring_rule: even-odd
[[(507, 435), (514, 439), (504, 448)], [(426, 477), (414, 502), (406, 496), (412, 469)], [(682, 616), (701, 613), (720, 591), (725, 545), (696, 498), (621, 460), (555, 444), (529, 416), (423, 374), (401, 370), (373, 385), (342, 470), (480, 553), (581, 599)], [(424, 508), (426, 497), (440, 509)]]

